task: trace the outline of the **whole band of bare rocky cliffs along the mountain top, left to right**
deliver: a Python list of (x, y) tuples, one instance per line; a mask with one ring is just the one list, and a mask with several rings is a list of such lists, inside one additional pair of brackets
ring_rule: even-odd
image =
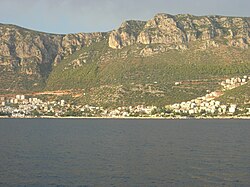
[(53, 67), (63, 59), (102, 41), (118, 51), (135, 44), (142, 45), (136, 55), (147, 57), (155, 51), (186, 50), (194, 42), (202, 43), (203, 50), (220, 45), (247, 49), (249, 36), (249, 18), (225, 16), (157, 14), (149, 21), (126, 21), (117, 30), (107, 33), (67, 35), (0, 24), (1, 89), (42, 88)]

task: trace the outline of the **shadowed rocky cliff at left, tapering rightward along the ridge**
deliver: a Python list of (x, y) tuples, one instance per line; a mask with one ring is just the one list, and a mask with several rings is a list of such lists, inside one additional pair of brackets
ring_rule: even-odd
[(44, 81), (53, 66), (82, 47), (101, 41), (105, 35), (47, 34), (0, 24), (0, 82), (5, 80), (4, 76), (8, 73), (11, 73), (9, 79), (13, 79), (13, 82), (16, 79), (23, 83), (29, 80)]

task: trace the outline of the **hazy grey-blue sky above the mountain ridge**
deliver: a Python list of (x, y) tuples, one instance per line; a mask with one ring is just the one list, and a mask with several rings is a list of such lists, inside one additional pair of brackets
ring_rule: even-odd
[(0, 0), (0, 23), (52, 33), (109, 31), (156, 13), (250, 17), (250, 0)]

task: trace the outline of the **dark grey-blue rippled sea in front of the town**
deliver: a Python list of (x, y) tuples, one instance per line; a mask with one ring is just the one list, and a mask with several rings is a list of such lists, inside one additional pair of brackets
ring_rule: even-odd
[(250, 186), (250, 121), (0, 119), (0, 186)]

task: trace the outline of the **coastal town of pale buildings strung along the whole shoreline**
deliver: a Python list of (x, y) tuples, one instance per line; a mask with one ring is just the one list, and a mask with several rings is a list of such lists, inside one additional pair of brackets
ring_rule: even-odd
[[(250, 81), (250, 76), (236, 77), (222, 81), (222, 90), (214, 91), (196, 99), (166, 105), (156, 106), (122, 106), (106, 109), (99, 106), (77, 105), (65, 100), (43, 101), (42, 99), (16, 95), (15, 97), (0, 97), (0, 116), (12, 118), (25, 117), (232, 117), (250, 116), (250, 108), (239, 107), (235, 103), (221, 104), (216, 98), (227, 90), (242, 86)], [(175, 83), (179, 85), (181, 82)]]

